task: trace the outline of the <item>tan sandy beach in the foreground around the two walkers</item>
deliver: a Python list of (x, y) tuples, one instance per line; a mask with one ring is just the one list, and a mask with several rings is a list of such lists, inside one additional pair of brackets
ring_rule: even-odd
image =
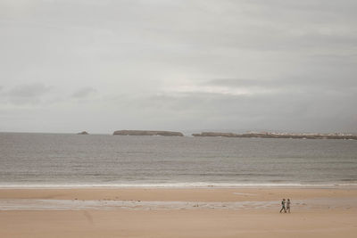
[[(281, 199), (288, 197), (292, 213), (279, 214)], [(0, 205), (2, 238), (357, 237), (356, 189), (0, 189), (0, 204), (12, 200), (148, 203), (110, 210), (100, 209), (102, 203), (99, 209), (79, 210), (4, 210)], [(155, 209), (150, 203), (154, 201), (168, 205)], [(170, 209), (172, 201), (189, 205)], [(229, 207), (251, 201), (270, 206)], [(215, 202), (226, 202), (228, 209), (201, 206)]]

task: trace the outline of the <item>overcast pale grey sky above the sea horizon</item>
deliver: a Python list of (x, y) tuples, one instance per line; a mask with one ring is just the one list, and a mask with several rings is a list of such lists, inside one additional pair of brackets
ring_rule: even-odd
[(355, 0), (0, 0), (0, 131), (357, 132)]

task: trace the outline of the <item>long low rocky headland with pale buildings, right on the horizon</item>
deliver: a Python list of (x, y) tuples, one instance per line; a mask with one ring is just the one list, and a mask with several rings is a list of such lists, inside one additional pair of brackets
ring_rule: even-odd
[(291, 139), (344, 139), (357, 140), (357, 135), (351, 134), (289, 134), (289, 133), (269, 133), (252, 132), (245, 134), (235, 134), (227, 132), (202, 132), (192, 134), (193, 136), (216, 136), (216, 137), (239, 137), (239, 138), (291, 138)]

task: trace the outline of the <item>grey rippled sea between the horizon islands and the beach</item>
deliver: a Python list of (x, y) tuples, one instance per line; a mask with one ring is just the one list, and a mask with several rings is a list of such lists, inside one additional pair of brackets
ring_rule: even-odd
[(0, 186), (357, 185), (357, 141), (0, 133)]

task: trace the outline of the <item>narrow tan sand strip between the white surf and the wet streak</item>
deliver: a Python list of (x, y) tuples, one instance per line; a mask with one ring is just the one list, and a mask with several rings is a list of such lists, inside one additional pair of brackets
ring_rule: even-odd
[[(0, 200), (107, 200), (107, 201), (280, 201), (342, 199), (357, 201), (356, 188), (2, 188)], [(356, 203), (357, 206), (357, 203)]]

